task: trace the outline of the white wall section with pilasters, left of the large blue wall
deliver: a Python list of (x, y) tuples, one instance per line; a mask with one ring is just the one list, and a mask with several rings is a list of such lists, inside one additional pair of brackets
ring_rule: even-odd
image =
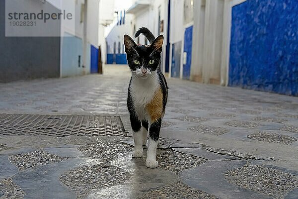
[(194, 1), (191, 80), (228, 84), (231, 8), (243, 1)]

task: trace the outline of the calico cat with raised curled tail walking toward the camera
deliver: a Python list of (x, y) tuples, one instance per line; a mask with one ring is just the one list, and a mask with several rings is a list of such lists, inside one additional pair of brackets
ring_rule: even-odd
[(135, 142), (132, 156), (142, 157), (143, 145), (147, 143), (149, 132), (146, 166), (156, 168), (156, 148), (168, 95), (166, 80), (159, 69), (163, 35), (155, 39), (145, 27), (140, 28), (135, 37), (140, 34), (147, 37), (150, 45), (137, 45), (128, 35), (123, 38), (127, 62), (132, 72), (127, 97)]

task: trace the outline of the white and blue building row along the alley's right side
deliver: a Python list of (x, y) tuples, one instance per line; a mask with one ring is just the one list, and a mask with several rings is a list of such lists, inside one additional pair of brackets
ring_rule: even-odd
[(127, 13), (133, 33), (164, 34), (168, 77), (298, 96), (297, 1), (135, 0)]

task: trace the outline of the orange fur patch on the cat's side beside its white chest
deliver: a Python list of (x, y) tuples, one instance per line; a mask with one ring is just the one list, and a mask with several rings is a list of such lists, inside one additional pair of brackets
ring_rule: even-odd
[(155, 91), (154, 97), (146, 105), (147, 111), (151, 117), (152, 122), (157, 121), (157, 119), (163, 116), (163, 106), (162, 106), (162, 91), (160, 87)]

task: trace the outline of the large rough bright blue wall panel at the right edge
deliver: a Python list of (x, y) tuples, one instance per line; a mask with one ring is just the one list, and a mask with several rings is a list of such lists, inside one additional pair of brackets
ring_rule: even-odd
[(298, 1), (232, 8), (229, 86), (298, 96)]

